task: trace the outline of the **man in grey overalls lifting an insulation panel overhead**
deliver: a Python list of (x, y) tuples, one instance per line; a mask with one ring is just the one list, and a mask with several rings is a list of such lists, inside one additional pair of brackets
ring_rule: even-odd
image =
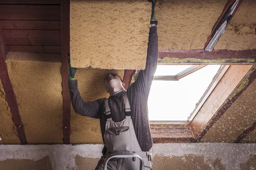
[[(74, 80), (76, 68), (71, 67), (69, 59), (69, 90), (74, 111), (82, 116), (100, 119), (100, 129), (104, 141), (103, 156), (95, 170), (101, 170), (106, 157), (111, 153), (136, 153), (143, 158), (145, 169), (151, 169), (152, 138), (148, 120), (148, 95), (157, 68), (158, 35), (155, 17), (155, 0), (152, 3), (151, 27), (147, 49), (146, 68), (140, 70), (137, 79), (125, 91), (124, 83), (118, 74), (108, 74), (105, 86), (109, 98), (94, 102), (83, 102)], [(107, 169), (139, 169), (138, 158), (114, 158)]]

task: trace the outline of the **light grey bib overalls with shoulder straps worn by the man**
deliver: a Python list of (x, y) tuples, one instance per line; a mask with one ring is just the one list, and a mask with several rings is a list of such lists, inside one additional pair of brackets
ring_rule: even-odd
[[(124, 95), (125, 102), (125, 119), (121, 122), (114, 122), (111, 117), (109, 101), (105, 99), (105, 112), (107, 117), (105, 129), (105, 146), (106, 154), (101, 157), (95, 170), (101, 170), (104, 166), (105, 158), (111, 153), (136, 153), (143, 158), (145, 170), (151, 169), (151, 157), (149, 152), (143, 152), (138, 144), (135, 135), (133, 122), (131, 119), (131, 107), (127, 97), (127, 92)], [(110, 170), (137, 170), (140, 169), (140, 160), (138, 158), (118, 158), (111, 159), (108, 162), (107, 168)]]

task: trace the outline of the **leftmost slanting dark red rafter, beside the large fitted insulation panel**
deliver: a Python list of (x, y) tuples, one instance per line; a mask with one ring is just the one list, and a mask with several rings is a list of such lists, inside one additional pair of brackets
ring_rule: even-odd
[(14, 121), (14, 124), (16, 126), (20, 143), (21, 145), (25, 145), (27, 144), (27, 139), (25, 136), (24, 126), (19, 114), (19, 107), (17, 104), (16, 96), (15, 96), (14, 90), (12, 89), (12, 84), (8, 75), (7, 65), (5, 63), (6, 50), (5, 50), (2, 35), (3, 35), (2, 30), (0, 28), (0, 41), (1, 41), (0, 43), (0, 49), (1, 49), (0, 50), (0, 79), (2, 82), (3, 89), (5, 91), (6, 101), (10, 108), (12, 121)]

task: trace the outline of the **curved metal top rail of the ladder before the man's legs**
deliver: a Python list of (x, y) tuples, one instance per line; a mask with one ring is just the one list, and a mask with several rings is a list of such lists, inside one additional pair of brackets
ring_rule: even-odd
[(107, 170), (108, 161), (112, 158), (138, 158), (140, 160), (140, 166), (142, 167), (140, 170), (144, 170), (144, 161), (143, 161), (142, 157), (140, 157), (138, 154), (135, 154), (135, 153), (112, 153), (112, 154), (109, 154), (104, 161), (104, 166), (103, 166), (104, 170)]

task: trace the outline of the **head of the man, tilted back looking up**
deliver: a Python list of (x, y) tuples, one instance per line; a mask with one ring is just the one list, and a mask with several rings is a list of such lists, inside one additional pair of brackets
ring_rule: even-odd
[(123, 80), (119, 77), (118, 74), (113, 74), (113, 73), (108, 74), (104, 80), (105, 80), (106, 90), (110, 95), (118, 91), (124, 90)]

